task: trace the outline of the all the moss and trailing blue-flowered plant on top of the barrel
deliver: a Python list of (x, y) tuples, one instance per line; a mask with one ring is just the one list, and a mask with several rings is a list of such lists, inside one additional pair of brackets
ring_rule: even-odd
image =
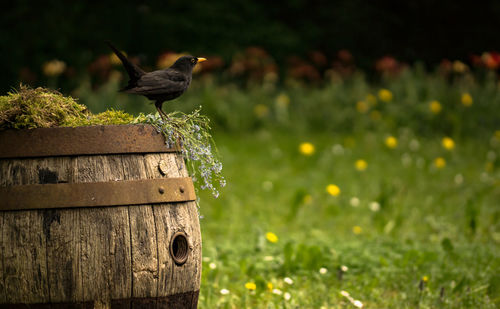
[(201, 189), (218, 197), (218, 187), (226, 184), (222, 163), (210, 134), (210, 120), (200, 114), (173, 112), (163, 120), (158, 114), (134, 117), (123, 111), (107, 110), (92, 114), (85, 105), (57, 91), (31, 89), (21, 85), (16, 92), (0, 97), (0, 129), (78, 127), (90, 125), (150, 124), (166, 139), (166, 147), (180, 146), (193, 180), (201, 178)]

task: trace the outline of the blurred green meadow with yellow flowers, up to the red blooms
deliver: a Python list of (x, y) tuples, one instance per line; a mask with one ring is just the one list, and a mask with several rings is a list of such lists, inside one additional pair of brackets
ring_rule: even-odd
[[(119, 74), (75, 92), (152, 112)], [(241, 88), (198, 77), (227, 186), (200, 191), (200, 308), (497, 308), (500, 84), (412, 68)]]

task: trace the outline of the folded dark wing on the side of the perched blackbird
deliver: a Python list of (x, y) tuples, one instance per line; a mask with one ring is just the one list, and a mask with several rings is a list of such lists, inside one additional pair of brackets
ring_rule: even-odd
[(144, 74), (136, 86), (126, 92), (142, 95), (168, 94), (183, 92), (188, 85), (187, 77), (183, 74), (163, 70)]

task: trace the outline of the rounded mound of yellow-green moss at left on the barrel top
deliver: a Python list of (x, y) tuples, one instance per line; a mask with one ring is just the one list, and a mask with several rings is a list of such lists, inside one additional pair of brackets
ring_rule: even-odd
[(0, 97), (0, 128), (32, 129), (68, 126), (84, 121), (89, 112), (73, 98), (44, 88), (20, 89)]

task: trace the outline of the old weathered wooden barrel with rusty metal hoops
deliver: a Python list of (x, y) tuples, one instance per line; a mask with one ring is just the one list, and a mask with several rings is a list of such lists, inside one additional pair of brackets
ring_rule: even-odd
[(0, 132), (0, 308), (196, 308), (195, 199), (151, 126)]

